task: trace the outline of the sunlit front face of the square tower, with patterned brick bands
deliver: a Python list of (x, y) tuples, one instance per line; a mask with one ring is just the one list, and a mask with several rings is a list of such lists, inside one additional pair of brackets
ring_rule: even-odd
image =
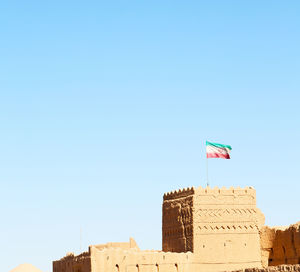
[(197, 188), (194, 253), (223, 269), (261, 267), (259, 228), (264, 216), (253, 188)]

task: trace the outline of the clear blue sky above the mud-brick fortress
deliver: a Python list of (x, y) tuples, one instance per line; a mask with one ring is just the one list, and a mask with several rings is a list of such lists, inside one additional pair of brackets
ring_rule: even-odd
[(161, 248), (166, 191), (253, 186), (300, 220), (299, 1), (6, 1), (1, 271), (89, 244)]

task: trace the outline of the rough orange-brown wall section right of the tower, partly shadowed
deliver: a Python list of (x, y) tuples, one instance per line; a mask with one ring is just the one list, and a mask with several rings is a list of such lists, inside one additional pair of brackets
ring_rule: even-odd
[(288, 228), (265, 226), (260, 240), (263, 266), (300, 263), (300, 222)]

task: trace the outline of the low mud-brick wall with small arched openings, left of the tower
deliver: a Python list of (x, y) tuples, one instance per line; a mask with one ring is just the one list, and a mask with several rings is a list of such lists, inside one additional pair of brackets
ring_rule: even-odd
[[(201, 264), (193, 254), (140, 250), (129, 243), (93, 245), (79, 256), (72, 254), (53, 262), (53, 272), (196, 272)], [(208, 270), (209, 271), (209, 270)]]

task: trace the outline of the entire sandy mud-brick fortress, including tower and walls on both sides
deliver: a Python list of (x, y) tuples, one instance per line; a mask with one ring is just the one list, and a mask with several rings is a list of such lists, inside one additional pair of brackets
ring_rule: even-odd
[(133, 239), (93, 245), (54, 261), (53, 272), (252, 272), (300, 263), (300, 223), (264, 227), (251, 187), (166, 193), (162, 210), (162, 251), (140, 250)]

